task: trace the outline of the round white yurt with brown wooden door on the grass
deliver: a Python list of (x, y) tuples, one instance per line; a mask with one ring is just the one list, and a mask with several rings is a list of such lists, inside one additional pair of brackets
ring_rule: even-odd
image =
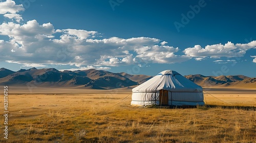
[(132, 105), (204, 105), (203, 88), (174, 70), (164, 70), (133, 88)]

